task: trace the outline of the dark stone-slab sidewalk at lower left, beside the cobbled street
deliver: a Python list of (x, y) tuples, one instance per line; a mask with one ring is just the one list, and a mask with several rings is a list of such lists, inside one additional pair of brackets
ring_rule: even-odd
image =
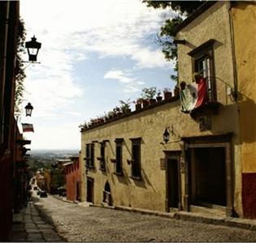
[(33, 202), (15, 215), (11, 241), (16, 242), (60, 242), (63, 241), (54, 227), (46, 223), (38, 213)]

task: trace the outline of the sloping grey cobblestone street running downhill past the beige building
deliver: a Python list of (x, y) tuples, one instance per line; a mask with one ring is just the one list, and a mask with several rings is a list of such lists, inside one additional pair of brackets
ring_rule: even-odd
[(67, 241), (256, 241), (256, 232), (241, 228), (81, 207), (52, 196), (36, 205)]

